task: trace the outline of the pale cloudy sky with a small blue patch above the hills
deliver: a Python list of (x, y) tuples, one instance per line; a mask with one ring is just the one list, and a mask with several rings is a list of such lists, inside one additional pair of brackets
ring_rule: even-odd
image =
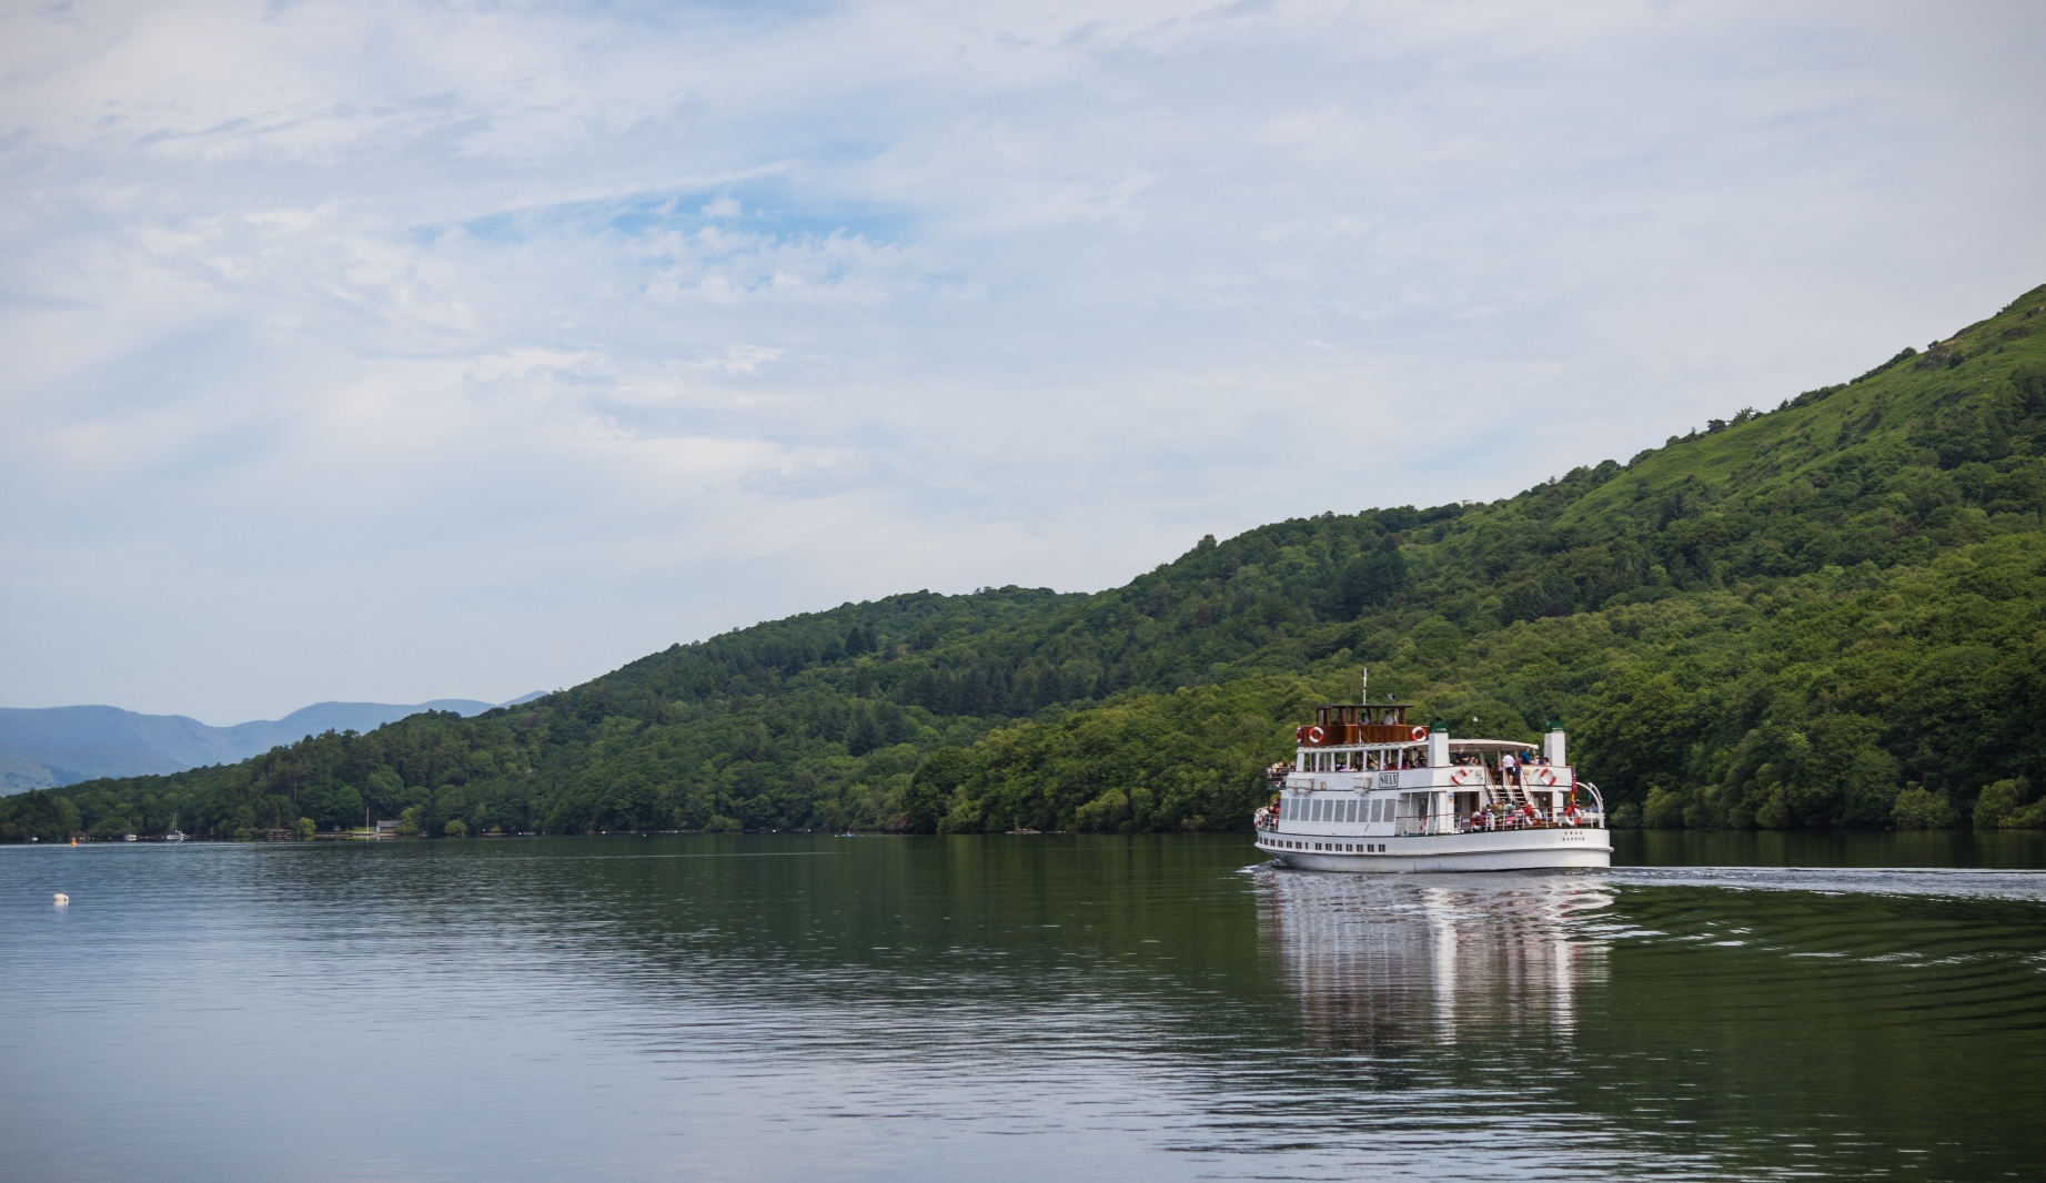
[(2046, 280), (2038, 4), (0, 10), (0, 704), (1487, 499)]

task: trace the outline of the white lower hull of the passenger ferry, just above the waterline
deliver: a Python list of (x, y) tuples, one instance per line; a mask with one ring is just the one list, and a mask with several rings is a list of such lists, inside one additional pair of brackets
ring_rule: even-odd
[[(1314, 849), (1318, 845), (1324, 849)], [(1352, 849), (1330, 849), (1342, 845)], [(1608, 868), (1612, 831), (1549, 827), (1406, 837), (1258, 833), (1258, 849), (1281, 866), (1336, 872)]]

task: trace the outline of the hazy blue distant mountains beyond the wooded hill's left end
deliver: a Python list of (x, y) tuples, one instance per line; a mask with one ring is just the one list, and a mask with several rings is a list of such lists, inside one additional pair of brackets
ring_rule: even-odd
[(391, 702), (315, 702), (284, 718), (258, 718), (233, 727), (207, 727), (182, 714), (135, 714), (119, 706), (0, 706), (0, 794), (55, 788), (98, 776), (184, 772), (231, 763), (325, 731), (374, 731), (421, 710), (483, 714), (511, 702), (436, 698), (397, 706)]

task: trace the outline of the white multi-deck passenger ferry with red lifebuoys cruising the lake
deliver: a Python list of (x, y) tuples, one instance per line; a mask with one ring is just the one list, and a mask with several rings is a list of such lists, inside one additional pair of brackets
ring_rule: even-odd
[(1606, 802), (1577, 780), (1561, 729), (1541, 747), (1453, 739), (1410, 722), (1410, 706), (1318, 706), (1293, 763), (1271, 770), (1258, 849), (1303, 870), (1612, 866)]

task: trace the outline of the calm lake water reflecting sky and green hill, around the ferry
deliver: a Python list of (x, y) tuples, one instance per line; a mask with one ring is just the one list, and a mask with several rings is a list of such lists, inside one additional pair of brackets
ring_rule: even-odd
[(1618, 837), (0, 847), (0, 1177), (2046, 1173), (2046, 835)]

